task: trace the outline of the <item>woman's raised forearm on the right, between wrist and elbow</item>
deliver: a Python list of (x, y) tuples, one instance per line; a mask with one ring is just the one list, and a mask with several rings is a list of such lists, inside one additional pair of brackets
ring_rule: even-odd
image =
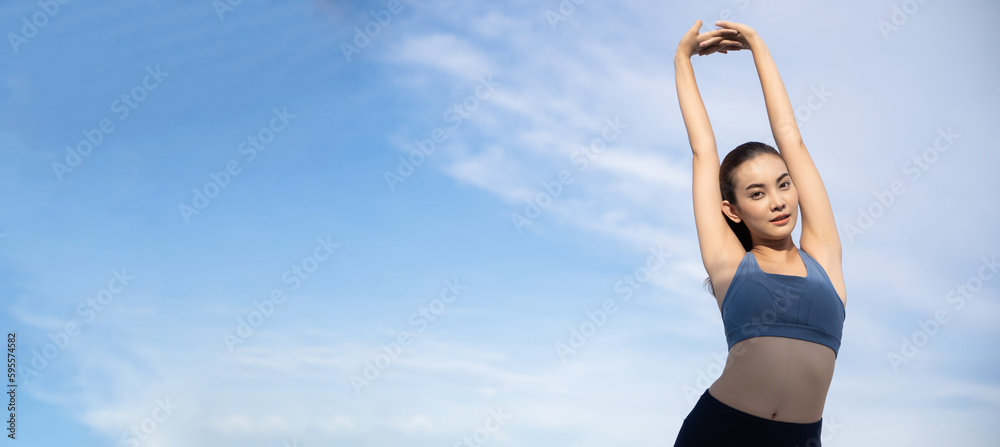
[(771, 123), (771, 134), (779, 150), (800, 147), (802, 136), (799, 126), (795, 123), (795, 112), (788, 100), (785, 84), (778, 74), (778, 67), (771, 58), (771, 52), (760, 36), (749, 37), (750, 51), (753, 52), (754, 65), (760, 86), (764, 92), (764, 104), (767, 107), (768, 121)]

